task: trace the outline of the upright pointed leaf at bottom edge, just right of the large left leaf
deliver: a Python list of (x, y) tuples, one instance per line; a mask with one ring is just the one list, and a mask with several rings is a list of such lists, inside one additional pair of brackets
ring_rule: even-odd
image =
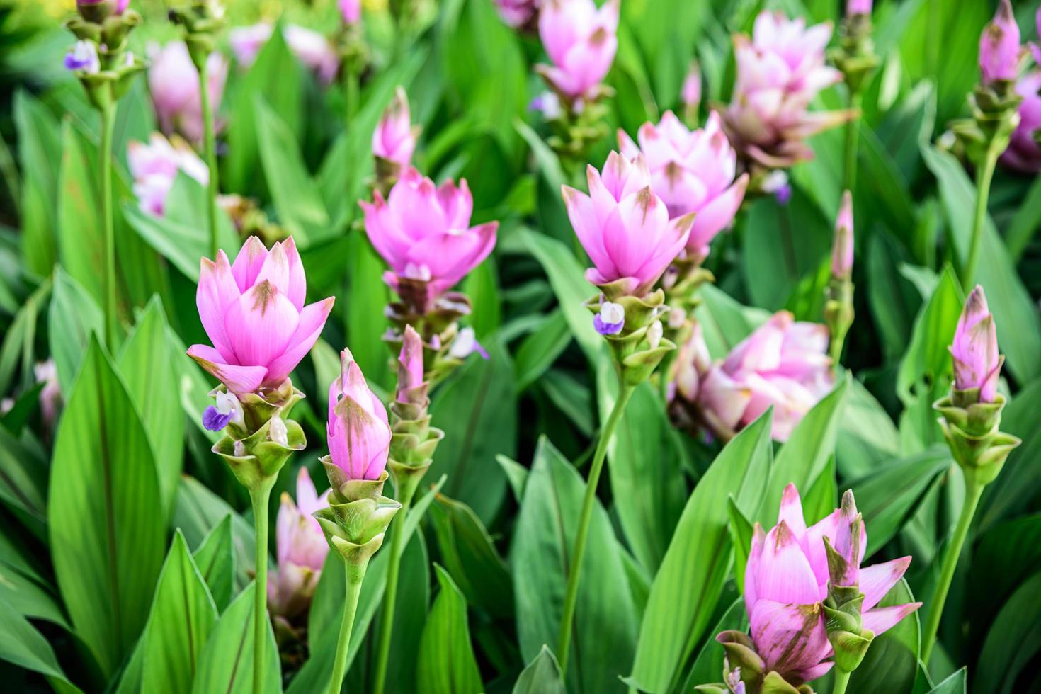
[(159, 574), (145, 632), (144, 692), (187, 692), (206, 639), (217, 622), (217, 606), (177, 531)]

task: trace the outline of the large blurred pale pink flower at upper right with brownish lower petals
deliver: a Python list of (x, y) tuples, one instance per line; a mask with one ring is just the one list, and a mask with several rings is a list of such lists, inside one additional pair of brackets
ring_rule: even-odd
[(731, 143), (750, 159), (780, 168), (813, 157), (805, 138), (849, 118), (843, 111), (807, 111), (842, 73), (824, 63), (829, 22), (806, 27), (780, 11), (756, 18), (752, 38), (734, 37), (737, 82), (723, 113)]

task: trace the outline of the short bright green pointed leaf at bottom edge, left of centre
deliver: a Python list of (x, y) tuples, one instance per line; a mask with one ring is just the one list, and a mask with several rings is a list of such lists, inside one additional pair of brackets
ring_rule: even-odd
[(449, 572), (434, 564), (438, 593), (423, 627), (416, 663), (418, 694), (474, 694), (484, 691), (466, 624), (466, 598)]

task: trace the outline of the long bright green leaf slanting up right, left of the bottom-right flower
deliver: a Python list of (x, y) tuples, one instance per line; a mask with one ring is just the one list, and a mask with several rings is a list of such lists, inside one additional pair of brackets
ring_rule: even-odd
[(631, 686), (669, 692), (679, 684), (730, 571), (729, 495), (745, 514), (761, 503), (772, 457), (771, 423), (767, 411), (735, 436), (687, 499), (651, 585)]

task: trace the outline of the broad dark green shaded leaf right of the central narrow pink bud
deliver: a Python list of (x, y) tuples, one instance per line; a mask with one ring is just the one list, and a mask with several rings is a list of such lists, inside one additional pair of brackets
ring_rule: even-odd
[(516, 455), (517, 401), (513, 365), (498, 339), (487, 340), (487, 360), (472, 355), (434, 393), (433, 423), (445, 440), (429, 475), (449, 475), (445, 493), (491, 522), (506, 495), (506, 475), (492, 464)]

